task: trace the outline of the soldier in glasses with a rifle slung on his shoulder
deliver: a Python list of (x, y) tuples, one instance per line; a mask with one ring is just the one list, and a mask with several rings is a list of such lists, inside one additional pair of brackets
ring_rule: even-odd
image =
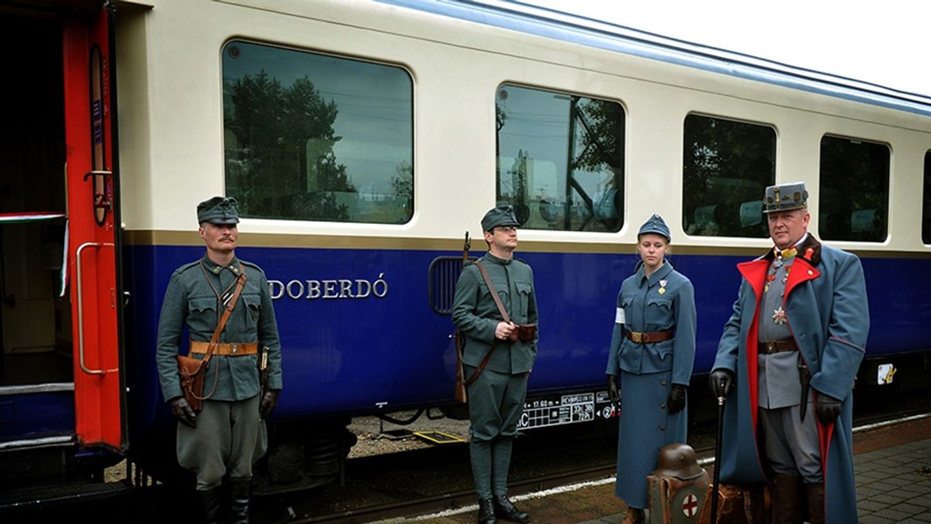
[(518, 434), (537, 341), (535, 329), (533, 334), (519, 329), (537, 322), (533, 271), (514, 258), (519, 225), (510, 206), (493, 208), (481, 220), (488, 252), (479, 262), (491, 277), (511, 322), (499, 314), (476, 264), (466, 265), (459, 276), (452, 304), (452, 322), (466, 336), (464, 376), (471, 377), (492, 352), (475, 382), (467, 385), (472, 424), (469, 451), (479, 494), (480, 524), (493, 524), (495, 517), (530, 521), (527, 513), (507, 499), (511, 445)]

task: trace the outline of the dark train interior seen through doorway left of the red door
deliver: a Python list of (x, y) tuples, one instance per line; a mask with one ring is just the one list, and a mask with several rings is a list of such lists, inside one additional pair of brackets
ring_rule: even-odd
[(0, 11), (0, 386), (73, 381), (71, 302), (61, 294), (65, 138), (61, 23)]

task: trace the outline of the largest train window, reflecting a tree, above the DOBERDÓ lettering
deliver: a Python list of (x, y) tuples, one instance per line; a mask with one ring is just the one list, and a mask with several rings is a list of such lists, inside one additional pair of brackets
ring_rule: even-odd
[(250, 218), (410, 221), (412, 88), (399, 67), (227, 43), (226, 194)]

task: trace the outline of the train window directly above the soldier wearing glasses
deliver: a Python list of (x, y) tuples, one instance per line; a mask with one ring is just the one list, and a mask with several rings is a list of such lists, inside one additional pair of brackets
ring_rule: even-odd
[(504, 84), (495, 95), (497, 201), (527, 229), (624, 224), (624, 108)]

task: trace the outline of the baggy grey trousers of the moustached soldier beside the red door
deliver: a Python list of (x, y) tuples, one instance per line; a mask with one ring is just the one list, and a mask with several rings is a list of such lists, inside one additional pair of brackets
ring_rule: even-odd
[(238, 402), (205, 400), (196, 427), (178, 423), (178, 464), (197, 476), (197, 490), (220, 486), (223, 477), (252, 477), (252, 464), (268, 447), (259, 396)]

